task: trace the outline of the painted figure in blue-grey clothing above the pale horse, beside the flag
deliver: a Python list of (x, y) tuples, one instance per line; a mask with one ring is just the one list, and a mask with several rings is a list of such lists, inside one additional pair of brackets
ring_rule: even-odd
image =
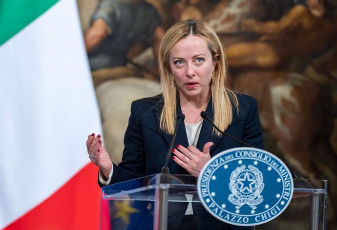
[(136, 42), (152, 44), (157, 56), (164, 36), (156, 8), (143, 0), (102, 0), (84, 34), (91, 70), (125, 66)]

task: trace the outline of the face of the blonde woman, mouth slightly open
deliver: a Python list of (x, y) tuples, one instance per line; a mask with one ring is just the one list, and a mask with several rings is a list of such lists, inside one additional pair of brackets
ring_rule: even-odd
[(169, 64), (181, 97), (188, 100), (208, 97), (216, 63), (205, 40), (194, 35), (179, 40), (171, 49)]

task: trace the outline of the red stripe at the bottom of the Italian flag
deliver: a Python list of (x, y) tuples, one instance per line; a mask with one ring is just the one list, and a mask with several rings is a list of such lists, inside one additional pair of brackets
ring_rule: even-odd
[(89, 163), (48, 199), (3, 230), (99, 230), (101, 189), (97, 171)]

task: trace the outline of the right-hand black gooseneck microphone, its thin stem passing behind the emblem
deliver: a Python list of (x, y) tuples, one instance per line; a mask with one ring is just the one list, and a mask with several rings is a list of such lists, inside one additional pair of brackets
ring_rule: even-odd
[[(237, 141), (237, 142), (240, 142), (242, 145), (244, 146), (248, 146), (248, 147), (253, 147), (251, 146), (250, 144), (246, 143), (246, 142), (243, 142), (239, 139), (237, 139), (236, 137), (233, 137), (232, 135), (228, 134), (228, 133), (225, 133), (223, 131), (221, 131), (212, 121), (211, 119), (209, 118), (208, 114), (206, 111), (201, 111), (200, 113), (200, 116), (203, 118), (203, 119), (206, 119), (207, 121), (209, 121), (209, 123), (211, 123), (211, 125), (216, 129), (218, 130), (221, 134), (229, 137), (229, 138), (232, 138), (233, 140)], [(297, 186), (296, 188), (312, 188), (311, 185), (309, 184), (309, 182), (307, 180), (305, 180), (304, 178), (302, 178), (298, 172), (296, 172), (292, 167), (290, 167), (287, 163), (284, 162), (284, 164), (289, 168), (289, 171), (290, 173), (292, 174), (292, 177), (294, 179), (298, 179), (299, 182), (297, 182)], [(295, 183), (295, 181), (294, 181)]]

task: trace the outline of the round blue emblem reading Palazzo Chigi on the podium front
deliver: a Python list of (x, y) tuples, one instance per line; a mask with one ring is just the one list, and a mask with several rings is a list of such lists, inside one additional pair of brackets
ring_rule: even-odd
[(254, 226), (276, 218), (289, 205), (294, 182), (288, 167), (265, 150), (238, 147), (223, 151), (203, 167), (198, 195), (216, 218)]

